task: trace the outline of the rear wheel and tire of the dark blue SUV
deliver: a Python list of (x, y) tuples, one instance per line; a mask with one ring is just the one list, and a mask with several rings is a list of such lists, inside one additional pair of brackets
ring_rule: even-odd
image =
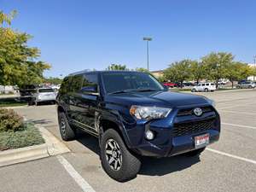
[(58, 112), (59, 127), (61, 132), (61, 138), (64, 141), (71, 141), (76, 137), (75, 130), (68, 124), (66, 114), (64, 112)]

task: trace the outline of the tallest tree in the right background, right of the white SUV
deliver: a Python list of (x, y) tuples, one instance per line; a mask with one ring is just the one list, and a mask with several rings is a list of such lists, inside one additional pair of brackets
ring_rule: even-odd
[(218, 88), (219, 79), (224, 79), (228, 73), (228, 66), (232, 63), (234, 56), (230, 53), (218, 52), (211, 53), (202, 58), (207, 71), (207, 79), (215, 81)]

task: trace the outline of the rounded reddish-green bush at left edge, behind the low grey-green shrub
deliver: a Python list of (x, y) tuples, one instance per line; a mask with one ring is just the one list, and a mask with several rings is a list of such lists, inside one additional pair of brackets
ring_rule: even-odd
[(13, 109), (0, 108), (0, 132), (21, 131), (24, 128), (23, 119)]

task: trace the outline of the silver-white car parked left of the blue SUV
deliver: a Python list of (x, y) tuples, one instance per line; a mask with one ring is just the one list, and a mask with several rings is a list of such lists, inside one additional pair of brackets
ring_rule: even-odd
[(57, 93), (52, 88), (38, 88), (34, 93), (34, 103), (38, 105), (38, 102), (55, 102)]

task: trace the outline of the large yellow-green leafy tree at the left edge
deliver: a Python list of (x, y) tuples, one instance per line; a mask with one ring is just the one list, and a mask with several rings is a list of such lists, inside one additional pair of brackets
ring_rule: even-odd
[[(32, 36), (8, 27), (15, 13), (5, 15), (0, 12), (0, 84), (40, 84), (43, 81), (44, 70), (50, 66), (38, 61), (38, 48), (27, 45)], [(4, 23), (8, 26), (3, 26)]]

